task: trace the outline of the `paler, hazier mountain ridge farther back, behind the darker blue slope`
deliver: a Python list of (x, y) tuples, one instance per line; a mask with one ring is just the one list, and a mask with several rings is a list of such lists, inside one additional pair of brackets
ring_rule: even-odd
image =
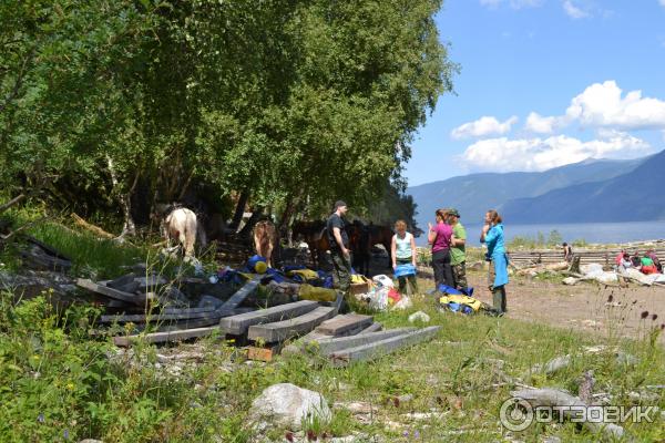
[[(510, 200), (536, 197), (583, 183), (612, 179), (631, 173), (647, 158), (587, 159), (540, 173), (471, 174), (412, 186), (407, 189), (407, 194), (418, 205), (416, 219), (421, 228), (433, 220), (434, 212), (441, 207), (456, 207), (461, 213), (463, 223), (480, 224), (488, 209), (501, 210)], [(521, 210), (518, 206), (514, 208), (515, 212)]]

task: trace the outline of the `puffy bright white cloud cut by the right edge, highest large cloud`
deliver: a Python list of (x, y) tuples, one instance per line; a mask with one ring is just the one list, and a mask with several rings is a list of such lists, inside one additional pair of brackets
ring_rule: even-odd
[(592, 84), (572, 100), (566, 119), (584, 126), (665, 128), (665, 101), (643, 97), (642, 91), (622, 93), (615, 81)]

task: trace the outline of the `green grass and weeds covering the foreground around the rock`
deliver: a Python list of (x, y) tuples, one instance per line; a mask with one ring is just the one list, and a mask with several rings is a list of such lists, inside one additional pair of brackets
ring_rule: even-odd
[[(53, 226), (54, 225), (54, 226)], [(146, 249), (121, 247), (85, 236), (74, 236), (57, 224), (35, 227), (38, 238), (71, 255), (79, 268), (113, 276), (122, 265), (146, 260)], [(82, 239), (83, 238), (83, 239)], [(419, 281), (421, 290), (431, 287)], [(499, 423), (501, 403), (511, 387), (502, 384), (497, 364), (510, 377), (523, 377), (535, 363), (571, 354), (572, 364), (552, 375), (526, 375), (536, 387), (567, 389), (576, 393), (577, 379), (594, 370), (594, 392), (612, 394), (620, 405), (632, 404), (631, 392), (665, 379), (664, 349), (656, 344), (659, 329), (644, 322), (641, 340), (624, 340), (621, 322), (605, 337), (586, 336), (484, 316), (439, 313), (433, 300), (421, 296), (406, 312), (380, 312), (385, 328), (407, 326), (408, 316), (423, 310), (438, 337), (427, 343), (370, 363), (336, 369), (320, 359), (303, 356), (278, 358), (269, 364), (246, 364), (238, 351), (221, 339), (198, 341), (203, 361), (183, 365), (176, 374), (157, 364), (157, 349), (139, 344), (132, 352), (117, 350), (90, 336), (100, 311), (74, 306), (54, 311), (49, 295), (20, 305), (9, 293), (0, 297), (0, 441), (105, 442), (250, 442), (252, 401), (267, 387), (290, 382), (320, 392), (329, 405), (365, 402), (375, 413), (355, 415), (334, 408), (330, 423), (311, 419), (310, 435), (365, 435), (365, 441), (389, 442), (494, 442), (508, 434)], [(589, 353), (585, 346), (616, 347), (637, 358), (634, 365), (617, 361), (614, 351)], [(182, 347), (181, 349), (187, 349)], [(501, 362), (500, 362), (501, 361)], [(654, 391), (656, 394), (662, 391)], [(410, 395), (400, 402), (398, 396)], [(662, 394), (649, 404), (665, 408)], [(408, 413), (437, 414), (416, 420)], [(626, 424), (637, 441), (665, 439), (665, 425)], [(269, 429), (267, 435), (284, 441), (288, 430)], [(540, 442), (556, 435), (565, 442), (596, 440), (573, 423), (532, 426), (512, 437)]]

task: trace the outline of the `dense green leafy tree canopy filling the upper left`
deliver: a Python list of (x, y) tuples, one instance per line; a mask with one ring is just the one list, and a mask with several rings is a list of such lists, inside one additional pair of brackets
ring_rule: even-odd
[(4, 1), (0, 182), (125, 215), (139, 188), (152, 205), (197, 186), (288, 216), (337, 198), (369, 213), (452, 89), (440, 7)]

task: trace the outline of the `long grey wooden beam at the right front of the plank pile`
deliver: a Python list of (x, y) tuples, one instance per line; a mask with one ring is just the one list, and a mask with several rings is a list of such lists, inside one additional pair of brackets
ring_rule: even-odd
[[(361, 344), (355, 348), (335, 351), (330, 353), (329, 357), (334, 365), (346, 367), (355, 361), (377, 359), (379, 357), (395, 352), (398, 349), (410, 347), (420, 343), (424, 340), (429, 340), (433, 338), (440, 329), (440, 326), (431, 326), (429, 328), (418, 329), (412, 332), (407, 332), (396, 337), (391, 337), (386, 340), (380, 340), (368, 344)], [(356, 337), (364, 338), (367, 337), (367, 334)]]

